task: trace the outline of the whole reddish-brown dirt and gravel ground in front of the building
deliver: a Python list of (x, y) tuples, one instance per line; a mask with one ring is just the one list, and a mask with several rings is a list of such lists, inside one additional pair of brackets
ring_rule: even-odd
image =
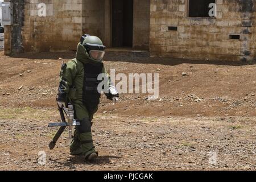
[(255, 64), (107, 55), (108, 71), (159, 73), (159, 98), (121, 94), (113, 105), (102, 96), (94, 163), (69, 155), (67, 131), (49, 150), (61, 61), (73, 56), (0, 54), (1, 170), (256, 169)]

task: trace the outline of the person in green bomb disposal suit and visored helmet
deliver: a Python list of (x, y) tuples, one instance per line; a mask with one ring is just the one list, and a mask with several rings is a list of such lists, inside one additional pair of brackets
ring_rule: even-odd
[[(92, 139), (93, 114), (98, 110), (101, 93), (99, 92), (98, 76), (105, 73), (102, 59), (105, 46), (97, 36), (83, 35), (77, 46), (76, 58), (63, 64), (60, 72), (58, 104), (60, 107), (71, 103), (74, 108), (75, 119), (80, 122), (76, 126), (71, 142), (71, 155), (84, 155), (85, 160), (97, 158)], [(119, 94), (107, 75), (108, 89), (104, 93), (109, 100), (118, 101)], [(103, 86), (104, 87), (104, 86)], [(105, 92), (107, 90), (108, 92)]]

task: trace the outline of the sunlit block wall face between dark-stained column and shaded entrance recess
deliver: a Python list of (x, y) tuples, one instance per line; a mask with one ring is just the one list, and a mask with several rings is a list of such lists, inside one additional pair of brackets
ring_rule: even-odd
[[(46, 4), (46, 16), (39, 16), (39, 3)], [(76, 49), (82, 34), (81, 12), (82, 0), (26, 0), (22, 28), (25, 51)]]

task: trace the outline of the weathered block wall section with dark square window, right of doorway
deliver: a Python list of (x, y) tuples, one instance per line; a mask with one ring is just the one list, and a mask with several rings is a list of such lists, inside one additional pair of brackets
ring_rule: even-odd
[[(186, 0), (151, 0), (151, 54), (198, 60), (253, 60), (255, 1), (216, 3), (216, 18), (189, 18)], [(168, 31), (168, 26), (177, 26), (177, 31)], [(230, 34), (241, 35), (241, 40), (229, 39)]]

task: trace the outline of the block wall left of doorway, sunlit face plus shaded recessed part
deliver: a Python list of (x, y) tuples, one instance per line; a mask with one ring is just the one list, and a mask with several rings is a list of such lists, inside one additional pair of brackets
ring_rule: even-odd
[[(46, 4), (46, 16), (38, 15), (39, 3)], [(104, 0), (25, 1), (22, 29), (25, 51), (75, 50), (85, 33), (103, 38), (104, 9)]]

